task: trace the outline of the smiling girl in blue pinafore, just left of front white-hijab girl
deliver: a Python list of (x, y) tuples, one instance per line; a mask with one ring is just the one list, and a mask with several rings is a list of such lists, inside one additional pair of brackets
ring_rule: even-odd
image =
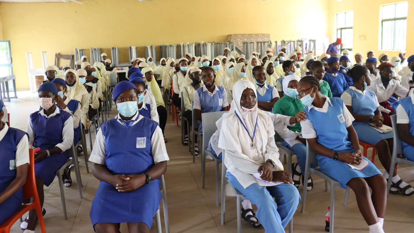
[(198, 131), (202, 135), (201, 114), (206, 112), (227, 111), (229, 102), (227, 101), (227, 92), (224, 87), (214, 84), (216, 75), (214, 69), (206, 67), (201, 72), (204, 87), (198, 88), (194, 93), (195, 117), (198, 120)]

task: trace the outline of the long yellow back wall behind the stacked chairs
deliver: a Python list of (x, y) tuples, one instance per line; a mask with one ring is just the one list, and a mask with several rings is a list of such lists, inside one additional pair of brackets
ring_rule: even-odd
[[(128, 61), (126, 46), (226, 41), (228, 34), (268, 33), (272, 41), (328, 36), (330, 0), (83, 0), (49, 3), (0, 3), (4, 39), (12, 46), (17, 88), (28, 88), (25, 52), (33, 53), (34, 68), (42, 68), (40, 51), (73, 54), (74, 48), (101, 47), (109, 56), (120, 47), (120, 62)], [(288, 9), (306, 5), (309, 14), (288, 20)], [(277, 14), (276, 12), (285, 12)], [(310, 20), (315, 23), (307, 24)], [(304, 23), (305, 22), (305, 23)], [(317, 29), (312, 29), (317, 25)], [(158, 57), (159, 59), (159, 54)]]

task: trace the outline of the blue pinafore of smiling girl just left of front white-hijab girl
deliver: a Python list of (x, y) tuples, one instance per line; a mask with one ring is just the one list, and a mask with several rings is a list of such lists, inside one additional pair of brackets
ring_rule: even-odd
[[(224, 87), (217, 86), (219, 89), (213, 96), (207, 94), (208, 91), (203, 91), (204, 88), (198, 88), (196, 92), (200, 97), (200, 105), (201, 105), (201, 113), (206, 112), (220, 112), (223, 108), (223, 92)], [(202, 121), (198, 121), (198, 132), (202, 135), (203, 133), (203, 126)]]

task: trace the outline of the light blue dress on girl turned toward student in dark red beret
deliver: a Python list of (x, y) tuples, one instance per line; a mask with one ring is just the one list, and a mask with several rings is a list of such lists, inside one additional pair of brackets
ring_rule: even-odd
[[(375, 116), (375, 110), (377, 110), (377, 103), (375, 102), (375, 94), (370, 90), (365, 90), (365, 95), (362, 95), (356, 90), (349, 88), (346, 90), (352, 98), (352, 112), (356, 114), (361, 114), (364, 116)], [(371, 126), (368, 126), (372, 121), (364, 122), (352, 122), (352, 126), (358, 134), (358, 139), (365, 143), (376, 145), (379, 141), (392, 138), (394, 135), (391, 132), (381, 133), (373, 129)]]

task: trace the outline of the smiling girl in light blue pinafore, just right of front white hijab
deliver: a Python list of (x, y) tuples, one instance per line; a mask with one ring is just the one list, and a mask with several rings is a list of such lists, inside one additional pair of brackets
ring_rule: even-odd
[(255, 66), (252, 70), (255, 79), (255, 88), (258, 93), (258, 108), (272, 112), (273, 105), (280, 100), (275, 87), (266, 84), (266, 70), (263, 66)]

